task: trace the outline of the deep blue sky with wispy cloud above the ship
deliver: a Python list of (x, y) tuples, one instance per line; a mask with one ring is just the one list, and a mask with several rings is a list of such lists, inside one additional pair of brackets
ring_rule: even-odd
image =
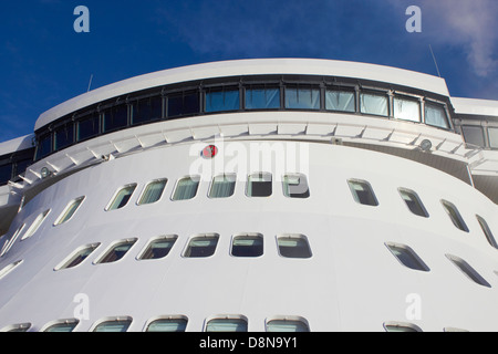
[[(75, 7), (90, 9), (76, 33)], [(408, 33), (405, 11), (422, 10)], [(0, 11), (0, 142), (92, 88), (176, 66), (249, 58), (369, 62), (442, 76), (498, 100), (496, 0), (22, 0)]]

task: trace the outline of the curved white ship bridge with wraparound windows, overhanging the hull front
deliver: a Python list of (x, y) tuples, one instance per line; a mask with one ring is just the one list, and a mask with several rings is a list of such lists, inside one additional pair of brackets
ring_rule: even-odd
[(28, 143), (3, 144), (0, 195), (4, 206), (18, 207), (22, 197), (27, 202), (110, 158), (216, 138), (264, 138), (401, 156), (474, 185), (497, 202), (496, 107), (452, 98), (440, 77), (364, 63), (270, 59), (165, 70), (41, 114)]

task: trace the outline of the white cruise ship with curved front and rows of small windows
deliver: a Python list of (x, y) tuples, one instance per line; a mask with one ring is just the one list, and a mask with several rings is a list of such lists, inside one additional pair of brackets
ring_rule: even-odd
[(498, 331), (498, 101), (332, 60), (145, 74), (0, 144), (3, 332)]

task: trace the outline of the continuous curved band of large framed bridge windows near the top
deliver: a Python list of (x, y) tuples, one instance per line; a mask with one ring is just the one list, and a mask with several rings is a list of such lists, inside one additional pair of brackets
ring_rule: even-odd
[[(35, 159), (79, 142), (131, 126), (204, 114), (243, 111), (304, 110), (357, 113), (425, 123), (450, 129), (447, 105), (422, 95), (357, 84), (286, 82), (262, 77), (258, 83), (239, 77), (230, 83), (189, 84), (118, 97), (63, 117), (37, 132)], [(219, 82), (219, 80), (218, 80)]]

